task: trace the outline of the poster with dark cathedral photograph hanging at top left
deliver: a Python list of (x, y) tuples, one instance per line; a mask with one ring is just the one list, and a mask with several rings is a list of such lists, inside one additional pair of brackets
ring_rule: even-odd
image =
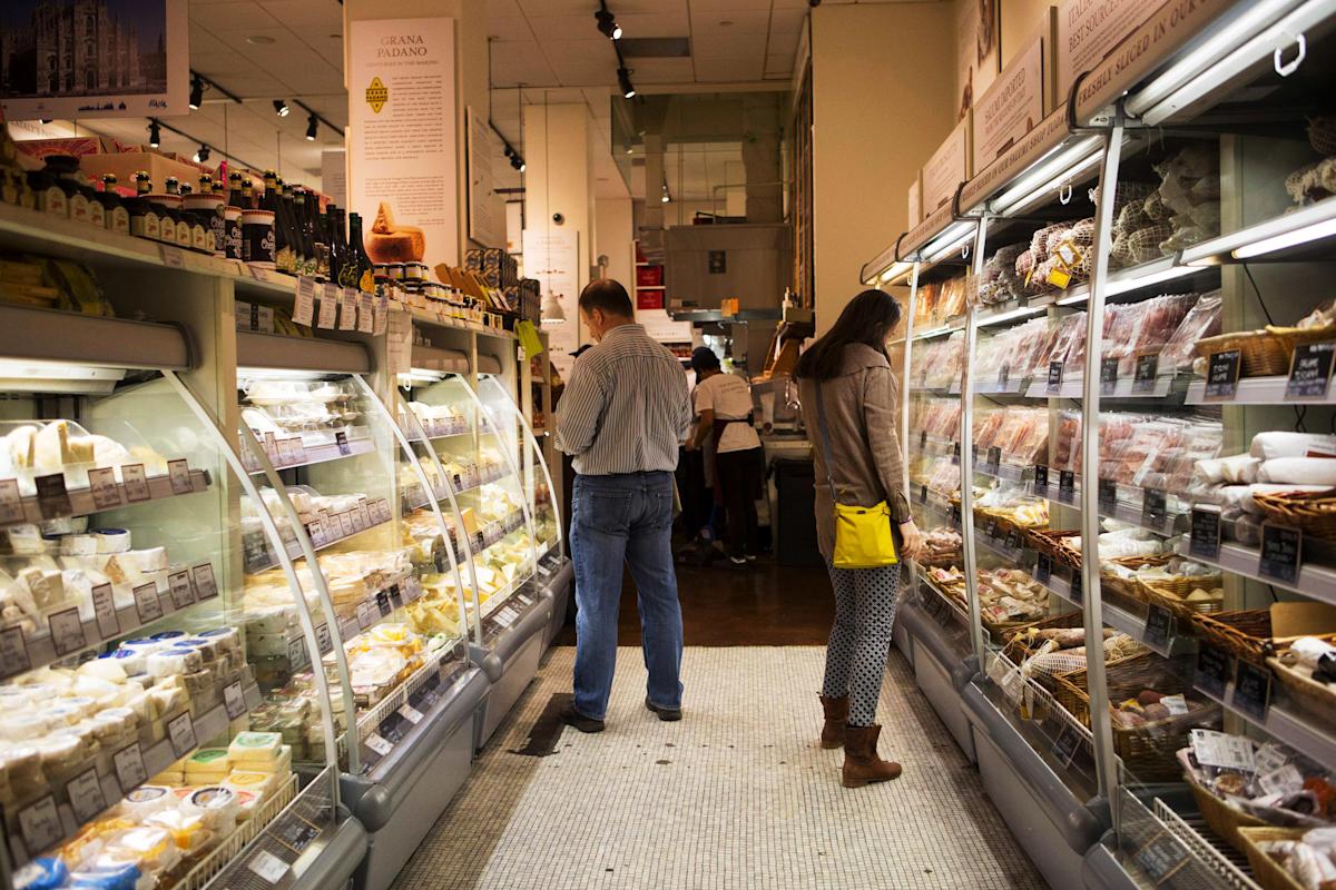
[(4, 0), (8, 120), (186, 113), (187, 0)]

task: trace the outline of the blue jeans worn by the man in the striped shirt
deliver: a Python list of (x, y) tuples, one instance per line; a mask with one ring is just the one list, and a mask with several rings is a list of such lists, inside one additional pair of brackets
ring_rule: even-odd
[(681, 707), (681, 606), (672, 562), (672, 474), (576, 476), (570, 498), (576, 566), (576, 710), (601, 721), (617, 666), (621, 566), (640, 592), (649, 701)]

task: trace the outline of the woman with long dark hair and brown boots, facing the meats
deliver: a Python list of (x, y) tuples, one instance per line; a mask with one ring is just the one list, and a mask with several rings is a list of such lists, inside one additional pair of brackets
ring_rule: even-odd
[(836, 502), (872, 507), (884, 500), (902, 562), (922, 547), (904, 494), (895, 432), (898, 387), (886, 358), (886, 340), (899, 320), (895, 298), (863, 291), (808, 347), (796, 371), (803, 420), (810, 435), (822, 435), (822, 447), (814, 448), (816, 538), (835, 588), (835, 623), (822, 685), (822, 747), (844, 747), (842, 778), (851, 789), (900, 774), (899, 763), (876, 754), (882, 731), (876, 703), (891, 646), (900, 566), (836, 568), (832, 562)]

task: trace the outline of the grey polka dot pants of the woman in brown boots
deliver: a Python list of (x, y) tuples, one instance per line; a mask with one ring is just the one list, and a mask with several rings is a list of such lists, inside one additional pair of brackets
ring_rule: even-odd
[(891, 648), (900, 567), (835, 568), (827, 563), (827, 568), (835, 587), (835, 624), (822, 695), (848, 695), (848, 725), (872, 726)]

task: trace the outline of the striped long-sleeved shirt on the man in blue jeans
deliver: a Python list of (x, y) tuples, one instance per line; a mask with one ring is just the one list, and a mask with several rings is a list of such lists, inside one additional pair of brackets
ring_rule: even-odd
[(677, 468), (691, 426), (687, 375), (643, 324), (620, 324), (576, 359), (557, 403), (557, 448), (576, 472)]

